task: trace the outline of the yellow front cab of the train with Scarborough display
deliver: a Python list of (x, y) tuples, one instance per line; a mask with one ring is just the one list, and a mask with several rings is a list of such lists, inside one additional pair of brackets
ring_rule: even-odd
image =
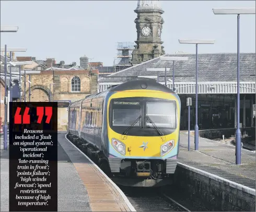
[(168, 184), (178, 163), (178, 95), (155, 90), (116, 92), (108, 101), (107, 117), (108, 160), (114, 182)]

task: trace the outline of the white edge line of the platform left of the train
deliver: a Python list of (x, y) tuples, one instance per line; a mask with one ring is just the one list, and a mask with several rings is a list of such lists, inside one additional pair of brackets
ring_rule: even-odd
[(94, 161), (92, 161), (87, 155), (84, 154), (83, 151), (81, 151), (79, 148), (77, 148), (70, 140), (68, 140), (67, 138), (67, 134), (65, 134), (65, 138), (67, 139), (67, 141), (69, 143), (71, 143), (78, 151), (80, 151), (99, 171), (101, 174), (103, 174), (103, 176), (114, 186), (114, 188), (119, 192), (119, 194), (122, 196), (124, 202), (126, 203), (127, 207), (129, 207), (129, 209), (131, 211), (136, 211), (135, 208), (132, 206), (132, 204), (130, 203), (129, 199), (127, 199), (127, 197), (125, 196), (125, 194), (121, 191), (121, 189), (119, 189), (119, 187), (95, 164)]

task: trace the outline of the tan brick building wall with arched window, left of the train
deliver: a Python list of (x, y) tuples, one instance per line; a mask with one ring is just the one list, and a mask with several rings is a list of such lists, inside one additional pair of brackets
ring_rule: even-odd
[[(30, 74), (30, 84), (28, 80), (29, 75), (26, 74), (26, 101), (29, 101), (30, 87), (31, 102), (74, 102), (97, 92), (98, 70), (52, 67), (40, 74)], [(58, 128), (66, 130), (67, 123), (67, 106), (58, 106)]]

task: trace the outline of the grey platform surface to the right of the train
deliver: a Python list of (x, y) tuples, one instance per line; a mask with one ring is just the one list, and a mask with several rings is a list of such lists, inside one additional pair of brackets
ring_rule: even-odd
[(255, 152), (241, 149), (241, 164), (236, 165), (236, 148), (215, 140), (199, 138), (199, 150), (194, 150), (194, 136), (180, 133), (179, 162), (221, 178), (255, 189)]

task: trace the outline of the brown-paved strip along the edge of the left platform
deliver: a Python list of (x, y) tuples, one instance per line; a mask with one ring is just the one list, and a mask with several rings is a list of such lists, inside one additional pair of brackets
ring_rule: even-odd
[[(91, 211), (131, 211), (123, 197), (110, 181), (65, 137), (58, 133), (58, 142), (72, 162), (80, 179), (80, 187), (86, 191), (87, 205)], [(59, 153), (59, 152), (58, 152)], [(69, 192), (69, 198), (73, 197)], [(70, 211), (70, 210), (69, 210)], [(72, 211), (77, 211), (72, 209)]]

